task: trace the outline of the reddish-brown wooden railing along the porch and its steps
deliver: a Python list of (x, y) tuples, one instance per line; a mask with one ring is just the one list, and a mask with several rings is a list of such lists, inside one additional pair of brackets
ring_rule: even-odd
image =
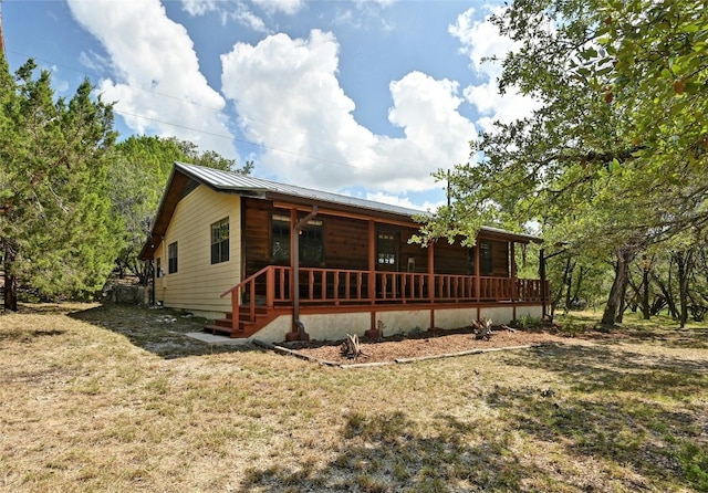
[[(300, 268), (303, 305), (542, 302), (540, 280), (457, 274), (369, 272)], [(292, 303), (292, 269), (269, 265), (221, 294), (231, 295), (233, 328), (239, 317), (256, 321), (257, 306)]]

